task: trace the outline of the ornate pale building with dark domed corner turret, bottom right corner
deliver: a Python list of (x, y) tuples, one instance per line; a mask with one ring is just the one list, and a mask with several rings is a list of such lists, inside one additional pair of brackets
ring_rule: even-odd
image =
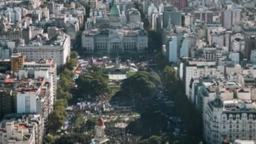
[(232, 99), (224, 101), (215, 96), (207, 104), (203, 121), (203, 136), (209, 144), (221, 143), (224, 139), (256, 140), (255, 103), (251, 100)]

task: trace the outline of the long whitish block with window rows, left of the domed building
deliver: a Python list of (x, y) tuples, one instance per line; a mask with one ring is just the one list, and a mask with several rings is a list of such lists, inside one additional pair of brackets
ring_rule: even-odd
[(26, 55), (28, 61), (53, 59), (58, 67), (62, 67), (70, 56), (70, 37), (60, 33), (56, 40), (30, 41), (28, 45), (18, 45), (17, 50)]

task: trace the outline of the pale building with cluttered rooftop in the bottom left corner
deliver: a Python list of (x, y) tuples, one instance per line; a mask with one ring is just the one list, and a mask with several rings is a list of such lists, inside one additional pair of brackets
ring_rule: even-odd
[(1, 143), (41, 144), (44, 124), (40, 115), (8, 114), (0, 124)]

